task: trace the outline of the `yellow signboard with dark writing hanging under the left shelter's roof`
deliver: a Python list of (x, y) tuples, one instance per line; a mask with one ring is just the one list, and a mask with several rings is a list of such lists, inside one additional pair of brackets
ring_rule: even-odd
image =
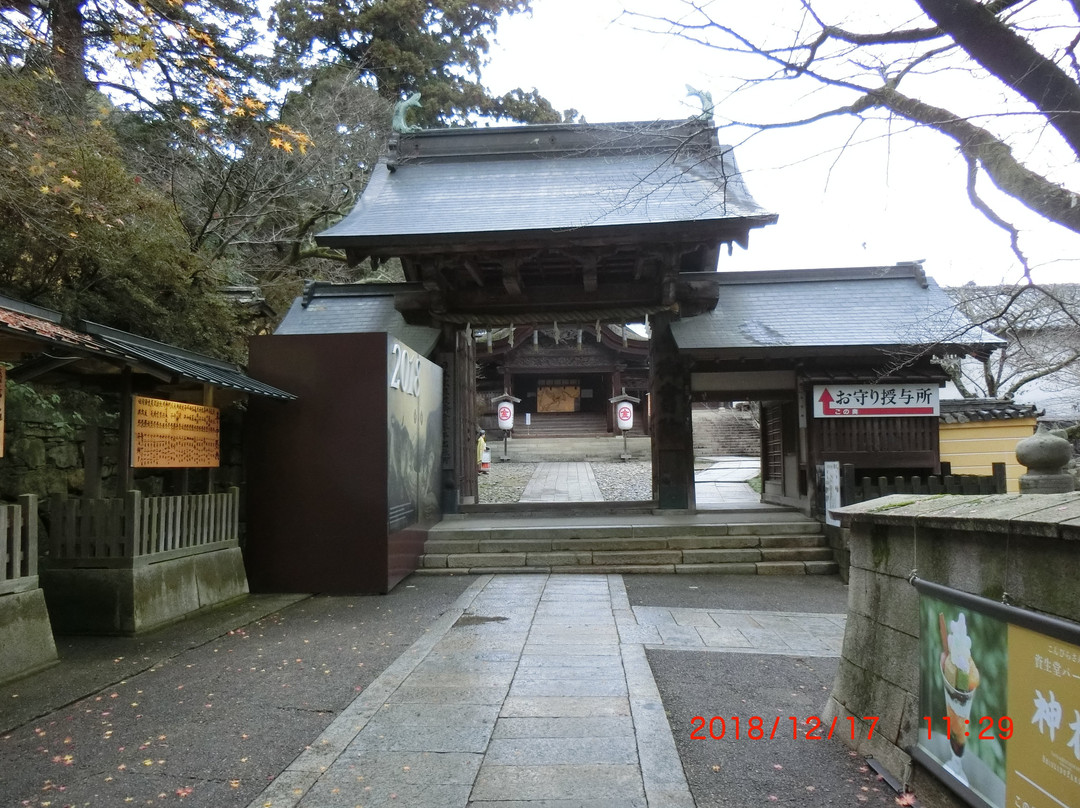
[(134, 468), (216, 469), (220, 464), (220, 410), (141, 395), (134, 398), (132, 406)]

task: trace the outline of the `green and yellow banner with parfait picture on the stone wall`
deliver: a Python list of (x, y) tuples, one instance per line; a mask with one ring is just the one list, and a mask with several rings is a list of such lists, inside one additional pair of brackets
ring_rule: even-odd
[(1080, 627), (914, 583), (913, 757), (977, 808), (1080, 808)]

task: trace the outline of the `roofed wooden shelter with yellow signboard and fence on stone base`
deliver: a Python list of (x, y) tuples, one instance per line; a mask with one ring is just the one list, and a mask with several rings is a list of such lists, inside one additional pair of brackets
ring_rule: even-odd
[[(138, 633), (247, 591), (239, 547), (239, 490), (215, 489), (213, 483), (198, 494), (187, 489), (189, 454), (203, 458), (192, 467), (217, 464), (210, 452), (192, 448), (199, 444), (204, 449), (218, 440), (215, 427), (192, 413), (210, 417), (217, 412), (210, 406), (215, 390), (218, 404), (248, 394), (288, 400), (291, 393), (251, 378), (235, 364), (94, 323), (69, 327), (55, 311), (5, 297), (0, 297), (0, 361), (10, 367), (6, 378), (13, 381), (114, 396), (120, 416), (116, 440), (103, 441), (99, 425), (84, 425), (78, 447), (64, 452), (80, 467), (80, 496), (69, 498), (63, 481), (63, 490), (42, 486), (41, 475), (31, 469), (24, 482), (27, 488), (38, 483), (38, 489), (19, 497), (17, 506), (0, 506), (0, 624), (24, 632), (0, 636), (0, 646), (10, 642), (21, 650), (40, 648), (50, 621), (69, 633)], [(136, 418), (136, 396), (145, 396), (146, 407), (175, 415), (181, 422), (166, 430), (175, 426), (174, 433), (150, 436)], [(139, 443), (141, 436), (146, 443)], [(30, 446), (35, 440), (24, 443)], [(166, 443), (178, 490), (144, 496), (134, 485), (137, 449), (161, 456)], [(23, 455), (48, 454), (26, 446), (17, 447)], [(108, 449), (114, 457), (105, 457), (106, 446), (114, 446)], [(19, 454), (11, 448), (12, 455)], [(106, 464), (117, 470), (111, 490), (102, 482)], [(51, 495), (40, 502), (48, 529), (39, 535), (43, 495)], [(46, 560), (41, 568), (39, 554)], [(19, 620), (8, 619), (14, 614)], [(38, 627), (37, 638), (27, 633), (28, 625)], [(0, 677), (11, 673), (4, 661)]]

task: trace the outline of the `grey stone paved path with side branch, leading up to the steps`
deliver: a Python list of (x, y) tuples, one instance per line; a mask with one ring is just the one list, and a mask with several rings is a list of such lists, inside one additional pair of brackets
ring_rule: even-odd
[(692, 808), (645, 648), (835, 656), (842, 627), (482, 576), (251, 808)]

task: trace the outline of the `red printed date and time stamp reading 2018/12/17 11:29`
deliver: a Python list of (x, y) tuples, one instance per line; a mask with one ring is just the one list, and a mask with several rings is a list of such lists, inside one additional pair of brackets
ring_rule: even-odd
[[(856, 719), (854, 716), (850, 715), (846, 717), (850, 727), (843, 727), (841, 723), (839, 727), (839, 737), (842, 737), (846, 729), (850, 729), (851, 740), (854, 740)], [(945, 735), (950, 738), (954, 737), (953, 721), (947, 715), (942, 716), (942, 718), (945, 722)], [(777, 730), (780, 729), (780, 723), (783, 719), (783, 716), (777, 716), (770, 727), (767, 719), (759, 715), (752, 715), (748, 716), (742, 724), (742, 732), (740, 732), (740, 721), (738, 715), (727, 716), (727, 718), (721, 715), (714, 715), (711, 719), (706, 719), (701, 715), (696, 715), (690, 719), (690, 738), (696, 741), (704, 741), (707, 739), (718, 741), (725, 736), (731, 740), (739, 740), (740, 738), (745, 738), (751, 741), (766, 739), (772, 740), (777, 737)], [(833, 717), (832, 723), (823, 723), (816, 715), (811, 715), (802, 722), (794, 715), (786, 716), (786, 719), (792, 722), (792, 737), (795, 740), (802, 738), (808, 741), (824, 741), (831, 739), (834, 731), (838, 729), (836, 716)], [(868, 715), (864, 717), (864, 721), (869, 724), (867, 738), (872, 738), (874, 736), (874, 728), (877, 726), (878, 717), (875, 715)], [(929, 715), (922, 716), (922, 721), (927, 723), (927, 740), (933, 740), (933, 722)], [(800, 725), (805, 729), (801, 733), (799, 732)], [(786, 730), (781, 730), (781, 737), (785, 737), (786, 735)], [(984, 715), (975, 722), (964, 719), (962, 736), (967, 738), (972, 735), (984, 741), (993, 741), (996, 739), (1007, 741), (1012, 738), (1013, 735), (1012, 718), (1008, 715), (1002, 715), (997, 719), (997, 722), (995, 722), (993, 717)], [(958, 722), (956, 727), (956, 737), (960, 736), (961, 732)]]

